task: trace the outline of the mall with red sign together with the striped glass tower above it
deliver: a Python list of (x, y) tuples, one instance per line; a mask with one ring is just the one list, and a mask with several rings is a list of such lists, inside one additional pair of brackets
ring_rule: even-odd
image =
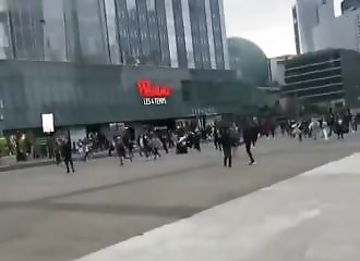
[(0, 0), (0, 133), (41, 114), (108, 135), (261, 105), (229, 70), (223, 1)]

